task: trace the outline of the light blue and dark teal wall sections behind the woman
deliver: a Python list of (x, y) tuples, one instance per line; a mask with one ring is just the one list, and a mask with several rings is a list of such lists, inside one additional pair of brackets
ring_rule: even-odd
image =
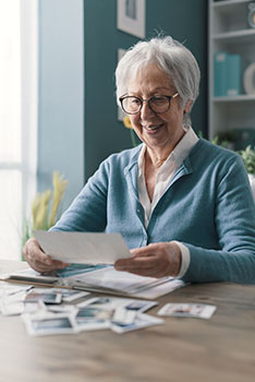
[[(185, 41), (202, 69), (192, 112), (207, 121), (207, 1), (147, 0), (146, 35), (155, 29)], [(38, 190), (59, 170), (69, 180), (65, 208), (109, 154), (131, 147), (117, 119), (114, 68), (119, 48), (138, 38), (117, 29), (117, 0), (39, 0)], [(85, 100), (84, 100), (85, 97)]]

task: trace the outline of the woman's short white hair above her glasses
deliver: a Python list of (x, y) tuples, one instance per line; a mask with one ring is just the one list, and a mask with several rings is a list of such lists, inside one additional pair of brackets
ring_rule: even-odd
[(148, 63), (155, 63), (170, 79), (180, 95), (180, 105), (193, 106), (199, 93), (201, 71), (193, 53), (170, 36), (138, 41), (131, 47), (116, 69), (117, 102), (127, 93), (127, 86), (137, 71)]

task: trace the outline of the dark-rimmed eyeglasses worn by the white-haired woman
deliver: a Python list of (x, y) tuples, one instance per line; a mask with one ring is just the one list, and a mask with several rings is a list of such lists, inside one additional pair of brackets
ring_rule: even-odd
[(179, 93), (172, 96), (156, 95), (148, 99), (142, 99), (135, 96), (122, 96), (119, 98), (121, 107), (127, 115), (136, 115), (141, 111), (143, 104), (148, 102), (148, 107), (156, 114), (166, 112), (170, 108), (171, 98), (175, 98)]

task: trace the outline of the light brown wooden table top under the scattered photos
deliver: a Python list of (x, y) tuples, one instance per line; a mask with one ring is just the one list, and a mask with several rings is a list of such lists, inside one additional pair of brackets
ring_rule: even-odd
[[(0, 261), (0, 273), (24, 266)], [(166, 318), (122, 335), (48, 337), (28, 336), (20, 317), (0, 317), (0, 381), (255, 381), (255, 286), (190, 285), (158, 301), (211, 303), (217, 311), (208, 321)]]

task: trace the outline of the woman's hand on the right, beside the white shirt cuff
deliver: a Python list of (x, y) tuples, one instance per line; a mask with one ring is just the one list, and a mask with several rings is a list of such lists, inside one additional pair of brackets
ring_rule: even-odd
[(117, 271), (141, 276), (177, 276), (181, 268), (181, 250), (175, 242), (156, 242), (131, 250), (132, 258), (114, 262)]

